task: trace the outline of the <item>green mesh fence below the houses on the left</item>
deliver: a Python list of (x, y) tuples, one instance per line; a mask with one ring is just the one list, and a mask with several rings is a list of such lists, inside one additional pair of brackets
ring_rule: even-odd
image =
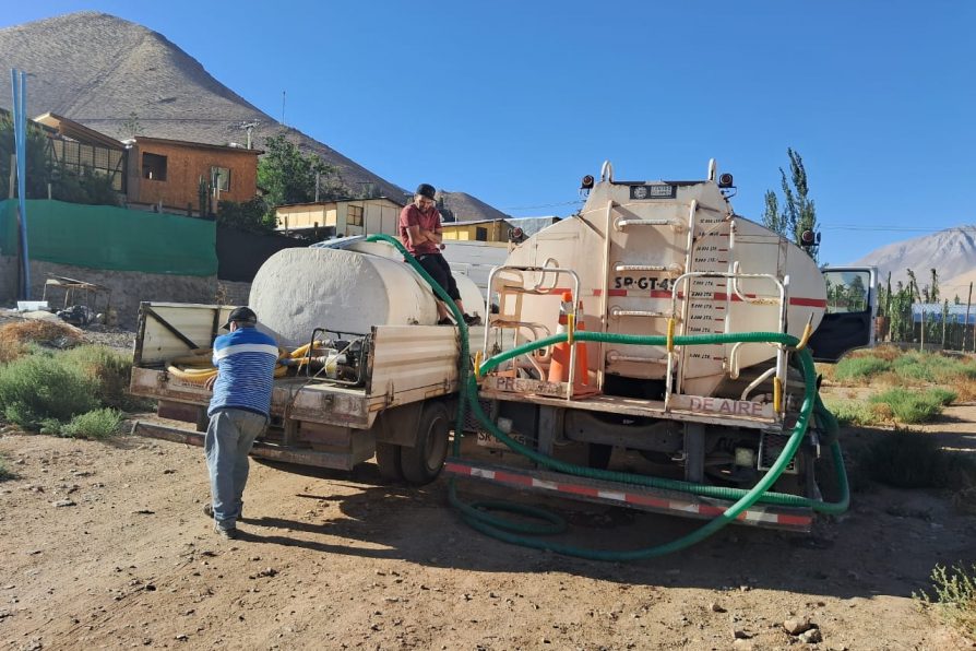
[[(27, 201), (32, 260), (112, 271), (217, 273), (216, 225), (108, 205)], [(0, 202), (0, 252), (17, 253), (16, 200)]]

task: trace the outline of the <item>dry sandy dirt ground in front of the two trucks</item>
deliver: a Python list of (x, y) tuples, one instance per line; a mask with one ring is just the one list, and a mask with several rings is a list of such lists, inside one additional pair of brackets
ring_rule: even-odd
[[(974, 419), (952, 409), (945, 430), (976, 447)], [(8, 434), (0, 454), (16, 474), (0, 483), (0, 649), (782, 649), (806, 646), (781, 626), (794, 615), (818, 649), (969, 648), (910, 600), (936, 563), (976, 558), (976, 518), (937, 493), (872, 488), (810, 536), (729, 528), (622, 565), (489, 540), (444, 480), (378, 486), (372, 465), (252, 464), (247, 537), (224, 542), (198, 448)], [(548, 504), (576, 544), (697, 525)]]

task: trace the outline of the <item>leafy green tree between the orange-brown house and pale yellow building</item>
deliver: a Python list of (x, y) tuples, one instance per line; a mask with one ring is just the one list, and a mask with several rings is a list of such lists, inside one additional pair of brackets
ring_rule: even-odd
[(320, 201), (353, 196), (336, 167), (316, 154), (303, 154), (285, 131), (265, 139), (264, 152), (258, 163), (258, 186), (272, 215), (278, 205), (314, 201), (317, 175)]

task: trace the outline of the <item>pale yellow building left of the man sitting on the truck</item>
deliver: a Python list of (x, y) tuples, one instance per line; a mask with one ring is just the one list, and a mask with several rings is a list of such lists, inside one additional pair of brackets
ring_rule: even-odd
[(324, 237), (377, 233), (396, 236), (403, 205), (385, 197), (279, 205), (275, 209), (276, 230), (286, 235), (318, 232)]

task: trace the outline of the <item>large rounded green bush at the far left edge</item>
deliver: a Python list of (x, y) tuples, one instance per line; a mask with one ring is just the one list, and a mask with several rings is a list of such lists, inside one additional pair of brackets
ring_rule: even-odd
[(25, 429), (43, 421), (68, 421), (98, 406), (97, 383), (60, 356), (36, 354), (0, 367), (0, 410)]

